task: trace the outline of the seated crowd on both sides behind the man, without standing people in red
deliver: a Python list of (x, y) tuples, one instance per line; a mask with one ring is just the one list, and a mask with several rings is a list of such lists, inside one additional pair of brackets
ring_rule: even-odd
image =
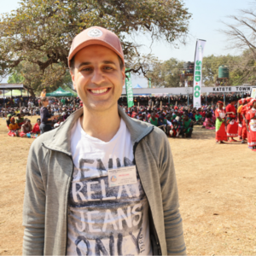
[[(45, 106), (46, 104), (47, 102), (45, 103)], [(73, 108), (72, 106), (68, 107), (66, 105), (63, 107), (47, 107), (47, 113), (50, 117), (48, 117), (49, 120), (47, 121), (48, 126), (50, 125), (49, 130), (60, 126), (65, 121), (65, 119), (67, 119), (68, 116), (76, 111), (79, 107)], [(134, 106), (132, 108), (123, 106), (122, 108), (131, 118), (139, 119), (159, 127), (161, 130), (166, 132), (168, 137), (191, 137), (194, 125), (202, 125), (202, 128), (211, 130), (215, 129), (215, 108), (212, 106), (202, 107), (198, 110), (182, 105), (166, 105), (162, 108), (156, 108), (155, 106), (154, 108), (148, 106)], [(39, 108), (34, 108), (33, 112), (35, 115), (40, 114)], [(6, 123), (9, 129), (9, 136), (38, 137), (41, 133), (43, 133), (42, 127), (40, 127), (40, 125), (41, 122), (44, 123), (44, 120), (38, 119), (37, 123), (32, 127), (30, 119), (25, 118), (26, 115), (29, 116), (33, 114), (22, 111), (22, 109), (21, 113), (19, 109), (9, 109), (6, 119)]]

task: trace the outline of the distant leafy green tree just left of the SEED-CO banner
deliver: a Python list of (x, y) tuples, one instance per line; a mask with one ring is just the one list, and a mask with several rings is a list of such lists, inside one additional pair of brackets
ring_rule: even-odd
[(183, 61), (171, 58), (168, 61), (155, 62), (152, 71), (148, 72), (148, 78), (155, 87), (178, 87), (182, 70)]

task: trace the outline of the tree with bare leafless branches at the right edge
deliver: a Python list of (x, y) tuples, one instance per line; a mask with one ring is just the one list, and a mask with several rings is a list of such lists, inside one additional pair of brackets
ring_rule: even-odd
[(221, 30), (230, 43), (230, 49), (241, 51), (240, 61), (236, 61), (231, 71), (238, 73), (236, 82), (255, 84), (256, 82), (256, 1), (252, 9), (241, 9), (240, 15), (229, 16), (233, 24), (224, 23)]

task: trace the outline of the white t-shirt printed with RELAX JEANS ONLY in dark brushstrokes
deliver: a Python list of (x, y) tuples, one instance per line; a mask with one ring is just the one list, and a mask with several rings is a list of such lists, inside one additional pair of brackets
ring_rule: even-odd
[(108, 185), (108, 170), (134, 166), (125, 122), (108, 143), (86, 134), (80, 120), (71, 134), (67, 255), (151, 255), (148, 200), (138, 173), (137, 183)]

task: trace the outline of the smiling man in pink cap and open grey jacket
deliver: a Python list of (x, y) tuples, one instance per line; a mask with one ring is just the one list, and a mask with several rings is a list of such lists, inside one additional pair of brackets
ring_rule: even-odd
[(119, 38), (84, 30), (68, 64), (83, 108), (32, 143), (23, 253), (185, 254), (166, 135), (117, 104), (125, 84)]

